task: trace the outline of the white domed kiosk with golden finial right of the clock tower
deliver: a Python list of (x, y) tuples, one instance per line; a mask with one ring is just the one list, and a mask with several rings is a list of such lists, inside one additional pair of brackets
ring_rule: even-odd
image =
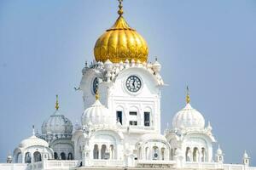
[(186, 106), (173, 116), (166, 139), (174, 150), (181, 151), (184, 161), (212, 161), (212, 144), (215, 142), (212, 127), (210, 124), (205, 127), (204, 117), (190, 105), (189, 88), (186, 102)]

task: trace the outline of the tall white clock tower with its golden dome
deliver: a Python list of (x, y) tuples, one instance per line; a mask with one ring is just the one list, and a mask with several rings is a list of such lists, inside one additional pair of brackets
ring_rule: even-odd
[(95, 60), (85, 65), (79, 89), (84, 109), (95, 102), (96, 89), (119, 130), (135, 145), (146, 133), (160, 133), (161, 65), (148, 62), (148, 45), (123, 17), (96, 41)]

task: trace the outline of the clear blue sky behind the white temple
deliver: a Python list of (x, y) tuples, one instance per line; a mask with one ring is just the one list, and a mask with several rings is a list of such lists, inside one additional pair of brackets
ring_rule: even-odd
[[(114, 0), (0, 1), (0, 162), (55, 111), (83, 113), (79, 86), (96, 39), (117, 19)], [(158, 57), (161, 128), (185, 105), (201, 111), (224, 150), (256, 166), (256, 1), (125, 0), (124, 17)], [(215, 151), (214, 151), (215, 152)]]

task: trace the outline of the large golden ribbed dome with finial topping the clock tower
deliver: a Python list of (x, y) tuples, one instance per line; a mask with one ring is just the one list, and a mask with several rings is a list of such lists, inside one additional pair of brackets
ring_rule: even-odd
[(105, 62), (110, 59), (113, 63), (125, 59), (148, 60), (148, 45), (143, 37), (132, 29), (122, 16), (122, 4), (119, 1), (119, 18), (114, 25), (105, 31), (96, 41), (94, 56), (96, 61)]

